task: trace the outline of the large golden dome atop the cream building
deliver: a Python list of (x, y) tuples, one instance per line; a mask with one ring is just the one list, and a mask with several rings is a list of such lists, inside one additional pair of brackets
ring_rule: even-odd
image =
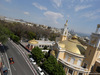
[(76, 53), (76, 54), (84, 54), (85, 49), (84, 46), (80, 44), (80, 42), (78, 42), (77, 40), (65, 40), (65, 41), (61, 41), (59, 42), (59, 46), (62, 49), (65, 49), (67, 51)]

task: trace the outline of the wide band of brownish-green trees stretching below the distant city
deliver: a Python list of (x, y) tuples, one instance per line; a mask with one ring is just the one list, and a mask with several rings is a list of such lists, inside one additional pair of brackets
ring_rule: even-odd
[(0, 20), (0, 25), (8, 28), (20, 39), (24, 37), (28, 40), (31, 40), (33, 38), (39, 39), (39, 38), (45, 37), (54, 41), (55, 38), (59, 36), (59, 33), (54, 33), (51, 31), (51, 27), (48, 27), (48, 29), (43, 29), (43, 28), (37, 27), (36, 24), (33, 24), (33, 26), (27, 26), (26, 24), (22, 24), (18, 22), (6, 22), (3, 20)]

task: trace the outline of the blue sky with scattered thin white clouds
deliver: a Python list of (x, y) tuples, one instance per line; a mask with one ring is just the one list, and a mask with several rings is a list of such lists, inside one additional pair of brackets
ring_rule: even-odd
[(0, 16), (91, 34), (100, 24), (100, 0), (0, 0)]

